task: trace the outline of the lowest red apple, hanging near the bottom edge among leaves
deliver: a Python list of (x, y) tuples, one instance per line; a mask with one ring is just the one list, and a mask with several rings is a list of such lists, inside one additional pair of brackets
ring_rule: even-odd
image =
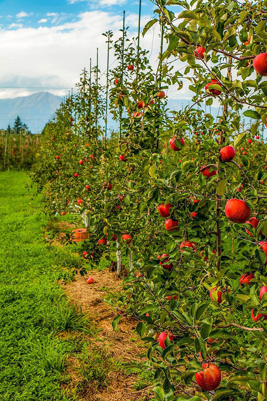
[(221, 372), (218, 366), (212, 363), (203, 363), (203, 372), (195, 373), (195, 380), (203, 390), (215, 390), (221, 381)]

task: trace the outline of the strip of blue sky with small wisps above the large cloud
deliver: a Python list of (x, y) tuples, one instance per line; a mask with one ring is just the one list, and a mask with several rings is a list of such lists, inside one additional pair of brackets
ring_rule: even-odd
[[(81, 13), (104, 10), (120, 15), (138, 13), (139, 0), (0, 0), (2, 29), (14, 29), (19, 26), (38, 28), (52, 27), (79, 19)], [(143, 14), (152, 14), (154, 6), (149, 0), (142, 0)]]

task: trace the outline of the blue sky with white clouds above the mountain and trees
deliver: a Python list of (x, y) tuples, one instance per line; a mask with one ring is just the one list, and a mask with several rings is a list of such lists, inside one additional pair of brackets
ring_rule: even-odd
[[(0, 98), (14, 98), (46, 90), (64, 96), (79, 74), (96, 62), (106, 69), (102, 33), (120, 35), (123, 10), (129, 35), (138, 27), (139, 0), (0, 0)], [(142, 0), (142, 27), (154, 6)], [(152, 29), (141, 41), (156, 62), (158, 33)], [(112, 63), (112, 59), (111, 59)]]

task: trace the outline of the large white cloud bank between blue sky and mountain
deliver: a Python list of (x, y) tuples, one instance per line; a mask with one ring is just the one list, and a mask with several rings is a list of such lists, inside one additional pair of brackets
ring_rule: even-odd
[[(52, 17), (52, 16), (51, 16)], [(53, 15), (54, 17), (54, 15)], [(148, 16), (143, 16), (142, 26), (148, 21)], [(130, 26), (129, 38), (136, 36), (138, 16), (130, 14), (126, 18), (126, 24)], [(12, 30), (0, 31), (0, 54), (2, 55), (0, 72), (0, 96), (3, 95), (1, 86), (14, 88), (14, 96), (25, 94), (27, 87), (74, 88), (79, 81), (79, 74), (84, 67), (89, 68), (89, 59), (93, 65), (96, 62), (96, 48), (99, 48), (100, 69), (106, 70), (107, 45), (106, 38), (102, 34), (108, 30), (113, 31), (114, 41), (120, 36), (122, 28), (122, 16), (104, 11), (91, 11), (78, 16), (77, 21), (60, 23), (58, 26), (38, 28), (23, 28), (12, 26)], [(151, 51), (152, 65), (157, 65), (159, 38), (157, 28), (152, 28), (145, 38), (140, 38), (143, 48)], [(153, 46), (152, 46), (153, 44)], [(20, 63), (18, 63), (20, 60)], [(114, 67), (114, 59), (111, 55), (110, 65)], [(7, 75), (23, 77), (17, 84), (3, 85)], [(53, 79), (49, 78), (53, 75)], [(27, 81), (32, 79), (35, 81)], [(105, 84), (105, 76), (101, 77)], [(18, 88), (26, 87), (26, 88)], [(37, 89), (36, 92), (41, 89)], [(47, 89), (54, 94), (68, 93), (68, 89)], [(5, 89), (11, 97), (11, 89)], [(33, 90), (29, 89), (33, 92)], [(16, 93), (15, 93), (16, 92)], [(13, 96), (13, 97), (14, 97)]]

